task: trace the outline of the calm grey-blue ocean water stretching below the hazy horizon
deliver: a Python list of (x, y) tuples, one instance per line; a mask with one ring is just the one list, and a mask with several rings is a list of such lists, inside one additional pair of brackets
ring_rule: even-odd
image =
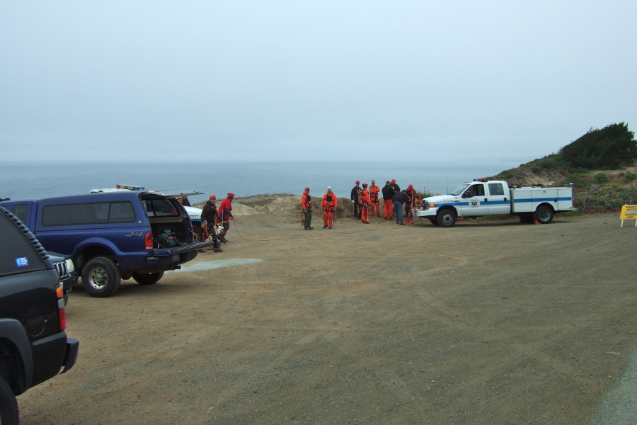
[(463, 181), (494, 176), (520, 164), (426, 164), (424, 162), (260, 162), (260, 163), (0, 163), (0, 198), (38, 199), (88, 193), (116, 184), (153, 190), (199, 191), (192, 203), (211, 193), (225, 198), (265, 193), (323, 196), (331, 186), (339, 197), (349, 197), (356, 180), (362, 183), (396, 179), (401, 188), (411, 183), (417, 191), (448, 193)]

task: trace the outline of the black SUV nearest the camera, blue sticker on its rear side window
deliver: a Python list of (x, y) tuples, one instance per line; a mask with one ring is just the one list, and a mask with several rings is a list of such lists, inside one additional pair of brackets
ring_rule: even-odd
[(0, 207), (0, 424), (18, 424), (30, 387), (73, 367), (79, 342), (67, 338), (64, 289), (38, 239)]

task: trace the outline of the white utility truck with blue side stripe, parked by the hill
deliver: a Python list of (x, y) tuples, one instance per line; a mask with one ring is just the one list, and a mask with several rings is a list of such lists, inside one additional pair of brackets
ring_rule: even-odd
[(477, 179), (458, 186), (449, 195), (422, 200), (415, 216), (433, 225), (452, 227), (458, 217), (517, 215), (522, 222), (546, 225), (556, 212), (574, 211), (573, 188), (522, 186), (509, 188), (506, 181)]

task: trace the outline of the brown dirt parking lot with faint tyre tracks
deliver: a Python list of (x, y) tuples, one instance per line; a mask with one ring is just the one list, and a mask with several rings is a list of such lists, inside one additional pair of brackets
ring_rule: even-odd
[(78, 363), (19, 397), (23, 424), (587, 424), (637, 346), (619, 214), (282, 217), (237, 214), (156, 285), (71, 293)]

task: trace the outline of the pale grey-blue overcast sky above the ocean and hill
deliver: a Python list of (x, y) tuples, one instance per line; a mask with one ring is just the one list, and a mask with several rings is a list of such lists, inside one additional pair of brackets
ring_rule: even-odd
[(2, 1), (0, 162), (517, 164), (637, 128), (637, 1)]

